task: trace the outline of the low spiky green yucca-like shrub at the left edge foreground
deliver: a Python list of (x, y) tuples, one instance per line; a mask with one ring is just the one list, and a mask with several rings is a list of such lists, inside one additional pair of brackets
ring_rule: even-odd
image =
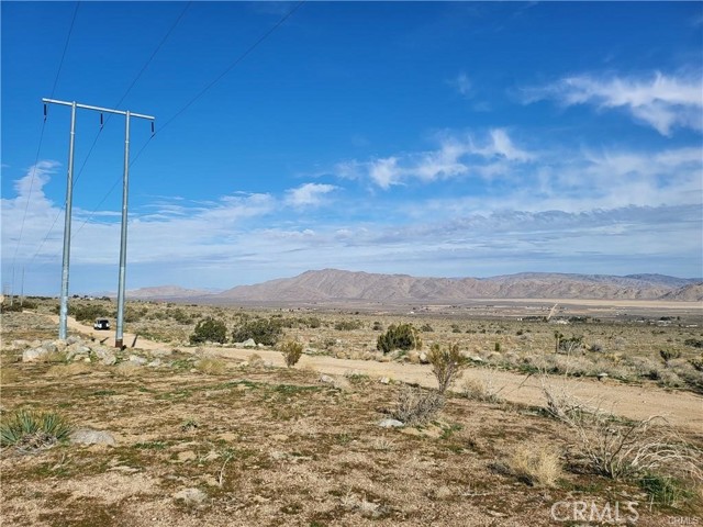
[(68, 439), (71, 427), (54, 412), (20, 410), (0, 424), (0, 446), (21, 451), (42, 450)]

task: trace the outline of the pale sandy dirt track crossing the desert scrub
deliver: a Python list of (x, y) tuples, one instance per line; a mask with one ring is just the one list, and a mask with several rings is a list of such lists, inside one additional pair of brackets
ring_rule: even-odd
[[(53, 316), (58, 323), (58, 316)], [(114, 344), (114, 333), (97, 332), (91, 326), (79, 324), (72, 318), (68, 319), (70, 329), (89, 334), (103, 339), (109, 336), (105, 344)], [(131, 345), (134, 335), (124, 334), (124, 343)], [(136, 348), (159, 349), (165, 345), (138, 338)], [(202, 348), (201, 348), (202, 349)], [(188, 351), (188, 348), (185, 349)], [(223, 358), (246, 360), (254, 354), (259, 355), (265, 361), (270, 361), (277, 367), (284, 367), (280, 352), (264, 349), (237, 349), (237, 348), (207, 348), (207, 352)], [(298, 368), (308, 368), (321, 373), (343, 375), (345, 373), (366, 374), (371, 378), (388, 377), (395, 381), (417, 383), (423, 386), (435, 386), (436, 381), (429, 366), (403, 365), (398, 362), (377, 362), (370, 360), (336, 359), (326, 356), (303, 356)], [(613, 413), (632, 419), (646, 419), (654, 415), (666, 417), (672, 425), (680, 428), (703, 434), (703, 397), (690, 392), (667, 391), (652, 384), (643, 386), (623, 384), (618, 381), (598, 381), (591, 379), (565, 379), (562, 377), (548, 375), (546, 380), (533, 375), (513, 373), (509, 371), (495, 371), (483, 368), (470, 368), (465, 371), (464, 379), (476, 379), (483, 382), (490, 381), (495, 390), (500, 390), (500, 396), (509, 402), (538, 405), (544, 404), (542, 383), (560, 393), (561, 390), (574, 395), (590, 405), (598, 405), (602, 410), (612, 410)], [(461, 384), (461, 381), (459, 381)]]

